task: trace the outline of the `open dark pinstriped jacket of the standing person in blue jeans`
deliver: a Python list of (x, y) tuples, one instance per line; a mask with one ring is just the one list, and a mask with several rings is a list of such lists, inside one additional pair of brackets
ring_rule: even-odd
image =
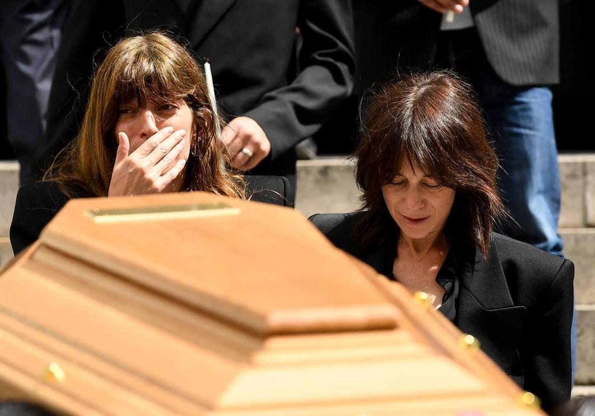
[[(475, 28), (493, 70), (511, 85), (559, 82), (559, 4), (563, 0), (472, 0)], [(397, 68), (431, 68), (442, 15), (417, 0), (354, 0), (363, 87)], [(364, 21), (365, 20), (365, 21)], [(366, 67), (367, 66), (367, 67)], [(361, 87), (358, 87), (361, 89)]]

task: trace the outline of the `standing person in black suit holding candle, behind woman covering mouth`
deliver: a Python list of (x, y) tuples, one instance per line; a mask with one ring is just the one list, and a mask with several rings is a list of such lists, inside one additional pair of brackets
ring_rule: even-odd
[[(293, 62), (296, 26), (302, 65)], [(85, 0), (73, 2), (48, 108), (47, 165), (78, 130), (93, 55), (137, 30), (167, 29), (210, 62), (231, 166), (295, 184), (297, 142), (330, 117), (352, 88), (349, 0)], [(124, 33), (126, 32), (126, 33)], [(100, 53), (101, 55), (101, 53)], [(246, 150), (244, 150), (246, 149)]]

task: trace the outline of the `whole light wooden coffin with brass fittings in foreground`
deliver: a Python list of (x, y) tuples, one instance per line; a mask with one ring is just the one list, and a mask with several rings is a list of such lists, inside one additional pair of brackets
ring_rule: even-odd
[(291, 209), (80, 199), (0, 276), (0, 398), (81, 415), (542, 415), (461, 336)]

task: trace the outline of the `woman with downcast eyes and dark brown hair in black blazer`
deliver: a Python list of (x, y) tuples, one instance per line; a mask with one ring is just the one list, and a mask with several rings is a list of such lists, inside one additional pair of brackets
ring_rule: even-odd
[(378, 273), (428, 293), (548, 409), (570, 398), (574, 265), (493, 232), (505, 208), (473, 94), (447, 72), (383, 87), (356, 151), (362, 210), (311, 220)]

